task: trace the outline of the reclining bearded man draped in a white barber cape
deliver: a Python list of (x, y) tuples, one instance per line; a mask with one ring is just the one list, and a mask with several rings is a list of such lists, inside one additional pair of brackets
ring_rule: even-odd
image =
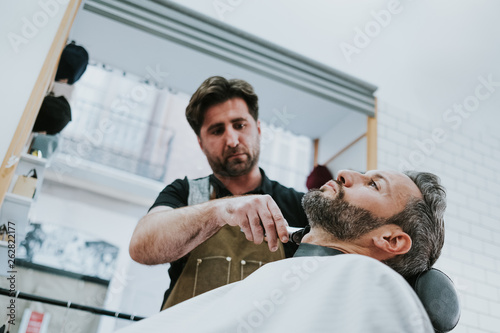
[(302, 203), (311, 231), (294, 258), (119, 332), (434, 331), (403, 277), (428, 270), (440, 255), (439, 178), (340, 171)]

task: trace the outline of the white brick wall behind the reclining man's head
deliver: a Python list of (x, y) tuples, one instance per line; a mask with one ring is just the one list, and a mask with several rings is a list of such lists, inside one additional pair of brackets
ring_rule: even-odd
[[(447, 188), (446, 240), (436, 267), (455, 282), (462, 316), (454, 333), (500, 332), (500, 135), (456, 130), (379, 103), (378, 168), (414, 169)], [(446, 138), (432, 141), (435, 128)], [(403, 163), (406, 161), (406, 163)]]

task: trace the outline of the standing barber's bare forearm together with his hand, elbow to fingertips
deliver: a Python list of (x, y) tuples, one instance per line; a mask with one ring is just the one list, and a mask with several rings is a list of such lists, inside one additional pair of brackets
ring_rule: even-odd
[[(166, 209), (166, 208), (165, 208)], [(129, 252), (135, 261), (156, 265), (175, 261), (214, 235), (222, 226), (239, 226), (247, 240), (266, 241), (270, 251), (288, 241), (286, 221), (269, 195), (244, 195), (154, 212), (135, 228)]]

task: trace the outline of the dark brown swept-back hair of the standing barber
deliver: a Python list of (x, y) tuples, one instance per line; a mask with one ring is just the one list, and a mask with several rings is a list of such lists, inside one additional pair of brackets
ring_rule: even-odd
[(200, 135), (205, 112), (209, 107), (236, 97), (245, 101), (248, 112), (257, 121), (259, 118), (258, 97), (248, 82), (239, 79), (226, 80), (221, 76), (206, 79), (191, 96), (186, 107), (186, 119), (196, 135)]

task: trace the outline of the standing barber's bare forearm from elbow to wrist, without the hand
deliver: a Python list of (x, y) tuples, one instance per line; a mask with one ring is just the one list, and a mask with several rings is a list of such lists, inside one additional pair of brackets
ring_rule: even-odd
[(175, 261), (220, 229), (212, 202), (150, 212), (134, 231), (129, 252), (135, 261), (156, 265)]

